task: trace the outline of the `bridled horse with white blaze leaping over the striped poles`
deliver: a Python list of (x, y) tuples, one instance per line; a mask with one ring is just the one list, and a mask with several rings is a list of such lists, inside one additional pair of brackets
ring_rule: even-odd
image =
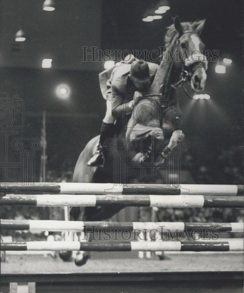
[[(200, 38), (204, 23), (205, 20), (180, 23), (177, 16), (174, 18), (174, 24), (167, 29), (164, 38), (166, 50), (148, 93), (135, 97), (132, 115), (127, 119), (117, 120), (119, 130), (115, 137), (105, 142), (107, 151), (104, 166), (87, 166), (99, 142), (99, 136), (96, 136), (81, 152), (75, 166), (73, 182), (127, 184), (149, 183), (152, 180), (152, 174), (148, 170), (141, 172), (144, 168), (128, 168), (124, 176), (124, 170), (113, 172), (114, 154), (123, 154), (126, 151), (126, 160), (129, 162), (139, 160), (143, 166), (148, 158), (157, 165), (165, 159), (165, 151), (159, 147), (160, 142), (168, 139), (168, 148), (173, 149), (175, 141), (184, 137), (180, 130), (181, 110), (176, 90), (183, 83), (188, 83), (193, 91), (204, 89), (207, 61), (201, 54), (204, 45)], [(140, 161), (143, 154), (146, 160)], [(159, 175), (154, 174), (154, 178), (161, 177), (160, 168), (157, 168), (157, 172)], [(70, 210), (70, 219), (100, 221), (112, 217), (120, 209), (122, 207), (73, 207)], [(68, 252), (60, 254), (63, 260), (68, 260), (70, 256)], [(85, 264), (89, 256), (89, 252), (80, 251), (75, 258), (76, 265)]]

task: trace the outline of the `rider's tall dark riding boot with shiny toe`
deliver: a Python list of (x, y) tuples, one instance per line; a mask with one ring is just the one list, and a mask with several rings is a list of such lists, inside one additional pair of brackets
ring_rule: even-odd
[(97, 151), (93, 154), (92, 158), (88, 161), (88, 166), (98, 166), (103, 167), (104, 159), (104, 142), (106, 139), (112, 138), (114, 136), (115, 126), (114, 123), (102, 122), (100, 141), (97, 147)]

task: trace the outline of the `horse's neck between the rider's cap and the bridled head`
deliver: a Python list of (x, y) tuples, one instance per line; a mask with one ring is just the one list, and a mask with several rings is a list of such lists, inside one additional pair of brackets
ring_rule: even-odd
[(161, 94), (161, 85), (165, 86), (165, 91), (166, 91), (169, 88), (170, 84), (176, 78), (175, 74), (172, 74), (174, 73), (174, 69), (175, 69), (174, 61), (173, 60), (169, 61), (169, 54), (167, 52), (170, 51), (172, 56), (174, 56), (176, 51), (177, 37), (178, 36), (175, 35), (171, 44), (166, 48), (166, 52), (164, 53), (162, 61), (159, 65), (154, 81), (152, 85), (150, 86), (150, 91), (154, 93), (154, 95), (156, 96)]

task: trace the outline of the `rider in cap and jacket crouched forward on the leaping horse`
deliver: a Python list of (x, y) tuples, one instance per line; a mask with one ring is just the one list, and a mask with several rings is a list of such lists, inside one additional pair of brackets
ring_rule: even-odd
[[(120, 66), (116, 66), (112, 70), (110, 79), (107, 81), (107, 111), (102, 122), (98, 149), (88, 161), (88, 166), (103, 166), (104, 142), (106, 139), (114, 136), (115, 120), (122, 118), (123, 115), (132, 113), (133, 102), (128, 107), (124, 107), (124, 100), (128, 99), (128, 96), (133, 97), (135, 91), (147, 91), (152, 84), (158, 65), (151, 62), (134, 60), (135, 57), (131, 55), (129, 62), (121, 62)], [(100, 74), (100, 82), (101, 75), (104, 73), (105, 71)], [(130, 99), (132, 100), (133, 98)]]

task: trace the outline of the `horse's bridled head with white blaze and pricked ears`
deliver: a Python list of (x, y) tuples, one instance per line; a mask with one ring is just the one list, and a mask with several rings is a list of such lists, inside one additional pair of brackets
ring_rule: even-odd
[(194, 91), (203, 91), (207, 78), (208, 63), (202, 53), (204, 44), (200, 38), (204, 24), (205, 20), (180, 23), (178, 16), (174, 18), (174, 29), (178, 32), (176, 50), (185, 78)]

